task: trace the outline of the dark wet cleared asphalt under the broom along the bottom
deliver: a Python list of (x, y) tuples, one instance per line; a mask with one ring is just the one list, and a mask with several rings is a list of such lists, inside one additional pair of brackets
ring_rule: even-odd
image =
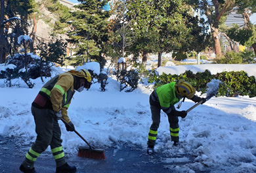
[[(0, 136), (0, 172), (16, 173), (20, 164), (22, 163), (26, 152), (32, 144), (24, 143), (24, 140), (12, 137)], [(164, 155), (150, 156), (146, 151), (136, 146), (118, 146), (118, 148), (104, 149), (106, 155), (105, 160), (94, 160), (77, 155), (69, 155), (66, 157), (70, 165), (77, 167), (77, 173), (142, 173), (142, 172), (173, 172), (167, 168), (170, 163), (162, 161)], [(186, 157), (190, 157), (186, 155)], [(191, 159), (192, 160), (192, 159)], [(180, 166), (186, 163), (179, 163)], [(177, 165), (177, 163), (176, 163)], [(55, 161), (51, 151), (43, 152), (35, 162), (35, 170), (39, 173), (53, 173), (55, 172)]]

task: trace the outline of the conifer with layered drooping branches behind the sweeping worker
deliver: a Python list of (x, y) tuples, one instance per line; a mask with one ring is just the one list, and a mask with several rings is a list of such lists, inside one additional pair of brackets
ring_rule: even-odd
[(97, 61), (103, 67), (106, 60), (102, 56), (104, 42), (108, 40), (107, 29), (109, 12), (103, 10), (107, 0), (81, 1), (72, 12), (70, 26), (74, 29), (68, 33), (69, 42), (75, 44), (74, 65), (87, 61)]

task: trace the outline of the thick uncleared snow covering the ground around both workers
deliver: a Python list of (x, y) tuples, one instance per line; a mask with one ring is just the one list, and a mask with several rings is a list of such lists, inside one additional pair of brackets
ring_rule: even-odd
[[(245, 70), (250, 76), (256, 76), (253, 65), (187, 65), (161, 67), (158, 72), (172, 74), (185, 69), (193, 72), (211, 72)], [(67, 69), (61, 69), (61, 72)], [(57, 74), (58, 71), (55, 71)], [(54, 74), (53, 74), (54, 76)], [(48, 79), (47, 79), (48, 80)], [(45, 81), (47, 81), (45, 80)], [(35, 87), (28, 89), (22, 82), (20, 87), (5, 87), (0, 80), (0, 134), (24, 137), (24, 143), (35, 140), (35, 124), (30, 108), (43, 83), (33, 80)], [(149, 95), (152, 87), (139, 84), (132, 93), (119, 92), (119, 84), (114, 78), (108, 78), (106, 91), (100, 91), (100, 84), (93, 84), (89, 91), (75, 93), (68, 114), (76, 130), (93, 146), (111, 147), (128, 142), (142, 146), (146, 152), (146, 142), (151, 121)], [(200, 95), (200, 93), (197, 93)], [(205, 95), (202, 95), (205, 97)], [(187, 110), (194, 102), (186, 99), (180, 110)], [(173, 172), (196, 172), (210, 168), (211, 172), (256, 172), (256, 98), (213, 97), (197, 106), (180, 119), (179, 149), (173, 147), (167, 116), (161, 113), (161, 123), (156, 140), (156, 154), (173, 153), (192, 158), (167, 158)], [(76, 153), (77, 146), (85, 146), (75, 133), (62, 129), (63, 147), (66, 154)], [(175, 153), (174, 153), (175, 152)], [(190, 161), (184, 166), (172, 166), (173, 163)], [(172, 164), (171, 164), (172, 163)], [(171, 172), (170, 170), (170, 172)]]

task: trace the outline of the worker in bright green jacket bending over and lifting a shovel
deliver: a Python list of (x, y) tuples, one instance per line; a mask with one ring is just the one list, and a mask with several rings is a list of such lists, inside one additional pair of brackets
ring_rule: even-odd
[[(154, 145), (156, 143), (156, 136), (158, 135), (158, 127), (160, 125), (160, 112), (163, 110), (168, 116), (170, 125), (171, 141), (173, 145), (177, 146), (179, 142), (179, 118), (185, 118), (186, 111), (178, 111), (174, 104), (184, 102), (185, 98), (191, 99), (194, 102), (206, 101), (195, 95), (196, 89), (190, 83), (179, 80), (178, 82), (171, 82), (163, 86), (157, 87), (150, 95), (150, 110), (152, 114), (152, 125), (148, 133), (148, 148), (149, 155), (154, 154)], [(202, 102), (202, 104), (203, 104)]]

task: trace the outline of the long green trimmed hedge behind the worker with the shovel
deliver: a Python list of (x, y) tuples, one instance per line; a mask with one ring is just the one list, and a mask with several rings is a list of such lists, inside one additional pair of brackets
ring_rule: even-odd
[(192, 71), (186, 71), (183, 74), (165, 74), (161, 76), (156, 75), (155, 71), (150, 72), (148, 82), (155, 83), (155, 87), (174, 82), (180, 79), (184, 79), (197, 91), (205, 93), (207, 91), (207, 83), (213, 79), (218, 79), (223, 82), (219, 86), (219, 96), (235, 97), (237, 95), (249, 95), (249, 97), (256, 96), (256, 84), (254, 76), (247, 76), (247, 72), (244, 71), (231, 71), (221, 72), (217, 74), (211, 74), (209, 71), (197, 72), (194, 74)]

